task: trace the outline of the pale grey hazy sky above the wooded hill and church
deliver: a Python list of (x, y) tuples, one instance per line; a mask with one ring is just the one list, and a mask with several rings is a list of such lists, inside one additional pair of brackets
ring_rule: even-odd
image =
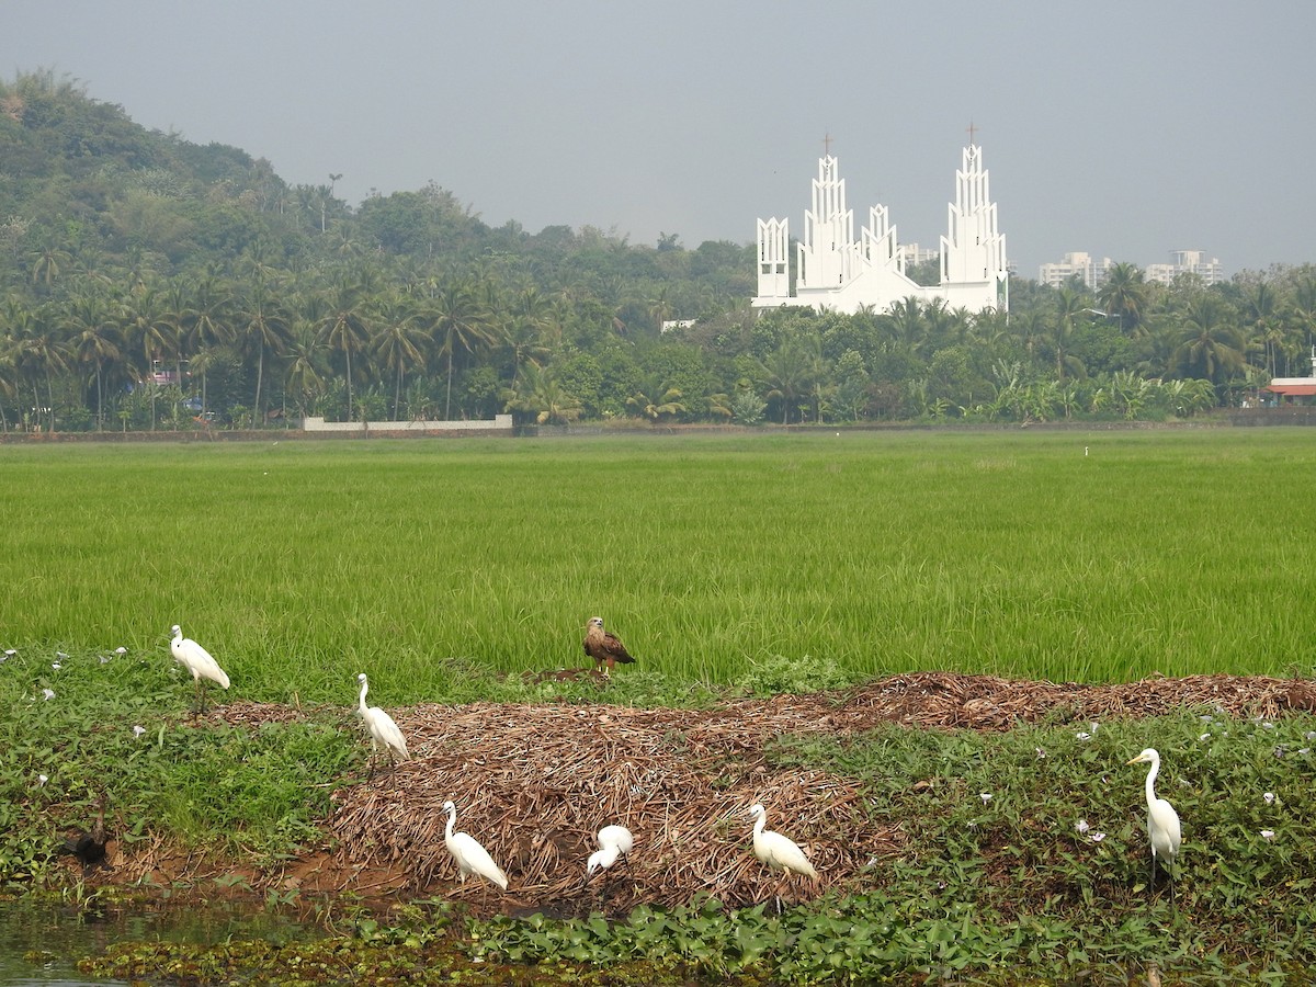
[(936, 246), (973, 122), (1029, 278), (1073, 250), (1316, 261), (1313, 38), (1311, 0), (0, 0), (7, 79), (530, 232), (799, 236), (830, 134), (855, 232), (880, 203)]

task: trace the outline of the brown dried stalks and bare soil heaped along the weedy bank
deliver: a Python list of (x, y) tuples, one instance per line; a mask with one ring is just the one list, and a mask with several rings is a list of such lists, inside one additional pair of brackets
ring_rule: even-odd
[[(365, 899), (443, 896), (476, 909), (599, 907), (688, 901), (700, 891), (728, 903), (780, 891), (812, 898), (854, 882), (874, 858), (899, 851), (899, 820), (875, 822), (853, 782), (824, 771), (776, 770), (765, 744), (779, 734), (848, 736), (882, 724), (1005, 730), (1042, 717), (1142, 717), (1186, 707), (1236, 716), (1316, 709), (1304, 679), (1228, 675), (1116, 686), (1013, 682), (948, 674), (898, 675), (838, 694), (736, 700), (707, 711), (597, 705), (418, 705), (395, 711), (412, 759), (340, 788), (325, 842), (301, 859), (257, 873), (233, 861), (172, 853), (163, 842), (111, 842), (96, 880), (188, 882), (218, 896), (241, 875), (250, 888), (354, 892)], [(233, 703), (212, 713), (234, 724), (290, 720), (292, 707)], [(457, 882), (443, 845), (443, 801), (457, 828), (479, 840), (511, 878), (507, 894)], [(750, 853), (750, 804), (769, 828), (794, 836), (821, 878), (765, 876)], [(624, 861), (584, 882), (594, 833), (630, 828)], [(72, 865), (71, 865), (72, 866)], [(220, 879), (220, 883), (215, 883)]]

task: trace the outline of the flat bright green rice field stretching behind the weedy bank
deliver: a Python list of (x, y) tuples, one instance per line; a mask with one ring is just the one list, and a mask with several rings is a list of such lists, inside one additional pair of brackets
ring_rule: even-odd
[(1296, 428), (5, 445), (0, 647), (178, 622), (309, 701), (580, 666), (592, 615), (667, 683), (1309, 675), (1313, 478)]

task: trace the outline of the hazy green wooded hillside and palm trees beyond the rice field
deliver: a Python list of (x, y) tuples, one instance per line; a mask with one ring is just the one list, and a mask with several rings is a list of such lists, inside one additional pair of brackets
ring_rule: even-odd
[(0, 429), (1169, 418), (1309, 366), (1311, 265), (755, 315), (749, 243), (494, 228), (437, 184), (353, 208), (328, 178), (0, 82)]

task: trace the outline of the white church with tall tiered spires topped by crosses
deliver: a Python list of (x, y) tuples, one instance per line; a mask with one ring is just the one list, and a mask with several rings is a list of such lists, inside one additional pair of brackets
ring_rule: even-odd
[(853, 315), (861, 307), (886, 312), (916, 297), (944, 299), (970, 312), (1009, 311), (1005, 237), (996, 229), (996, 204), (987, 190), (982, 149), (970, 143), (955, 172), (955, 201), (941, 238), (941, 280), (916, 284), (904, 271), (896, 228), (884, 205), (869, 209), (869, 225), (854, 238), (854, 211), (845, 204), (845, 179), (832, 154), (819, 158), (813, 208), (804, 213), (804, 237), (796, 245), (795, 293), (791, 293), (790, 222), (758, 221), (758, 296), (755, 308), (812, 305)]

